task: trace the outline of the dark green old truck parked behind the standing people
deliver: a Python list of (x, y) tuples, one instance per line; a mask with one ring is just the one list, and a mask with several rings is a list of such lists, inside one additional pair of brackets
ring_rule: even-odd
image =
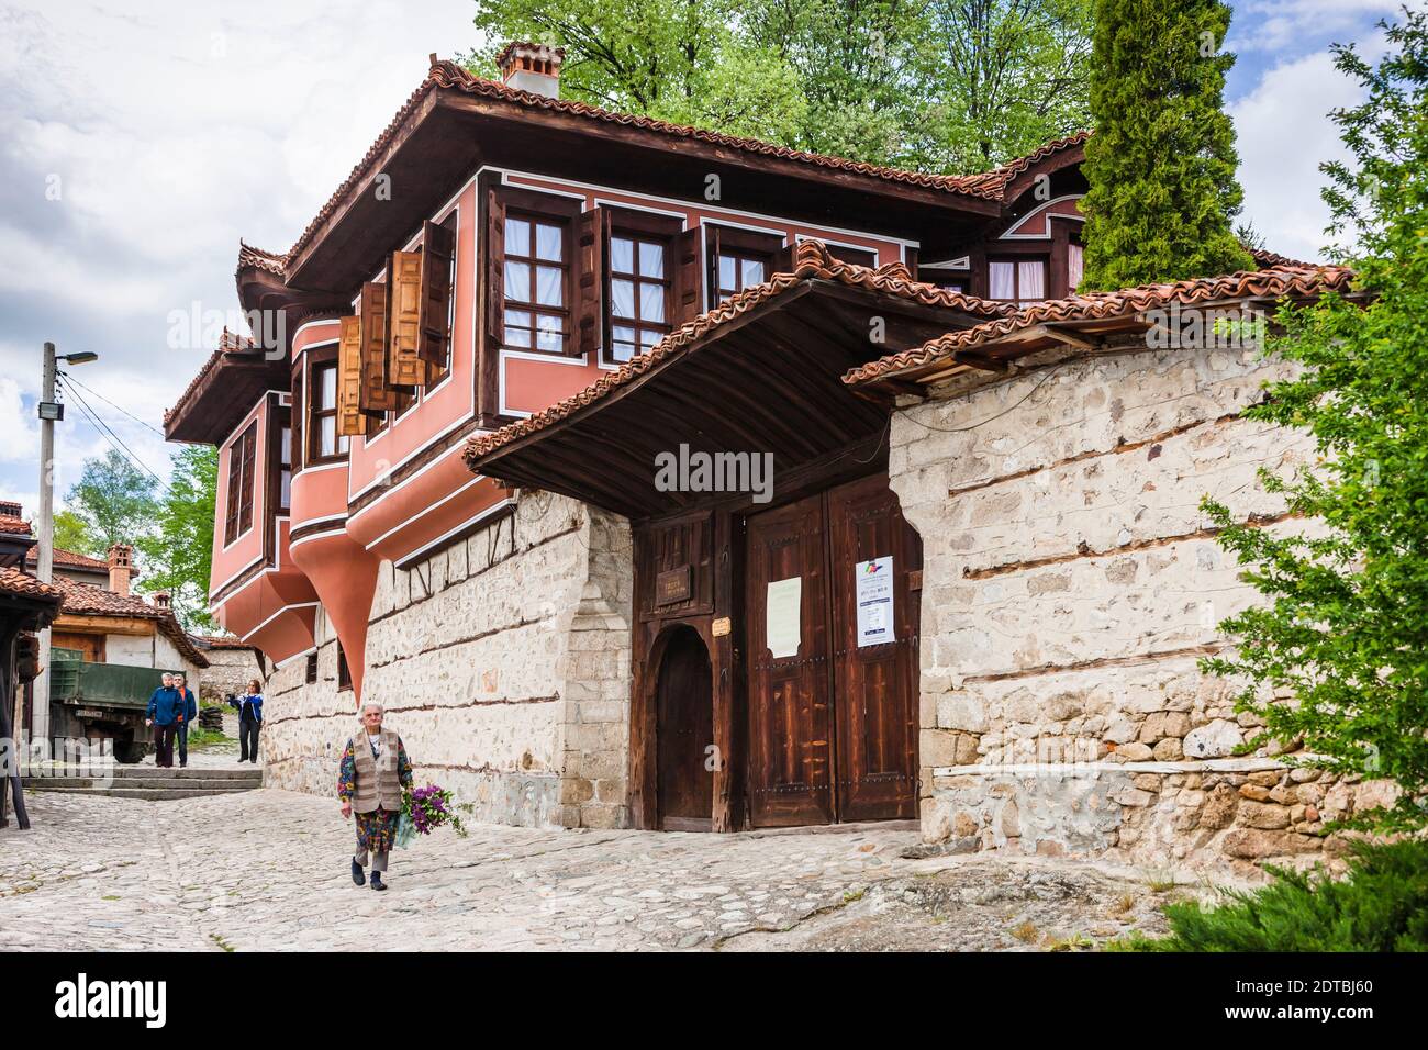
[(90, 663), (77, 649), (50, 650), (51, 737), (113, 740), (114, 760), (141, 761), (149, 753), (144, 726), (149, 697), (161, 667)]

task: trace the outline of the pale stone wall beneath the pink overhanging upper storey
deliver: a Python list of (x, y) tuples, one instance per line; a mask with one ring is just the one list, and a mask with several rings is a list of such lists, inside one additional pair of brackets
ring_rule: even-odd
[[(416, 766), (526, 826), (628, 823), (631, 539), (618, 517), (548, 493), (400, 570), (384, 563), (367, 634), (366, 697)], [(267, 784), (334, 790), (356, 727), (318, 616), (318, 681), (304, 660), (268, 681)]]

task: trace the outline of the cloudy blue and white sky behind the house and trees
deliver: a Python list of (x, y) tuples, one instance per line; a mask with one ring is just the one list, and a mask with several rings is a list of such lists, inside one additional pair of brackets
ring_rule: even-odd
[[(131, 9), (141, 7), (136, 14)], [(1315, 257), (1325, 119), (1354, 101), (1332, 41), (1377, 51), (1395, 0), (1237, 0), (1227, 101), (1247, 217)], [(238, 237), (286, 250), (420, 83), (477, 43), (473, 0), (0, 0), (0, 499), (37, 503), (40, 344), (167, 476), (163, 411), (207, 351), (176, 310), (233, 310)], [(84, 389), (87, 387), (87, 390)], [(56, 493), (107, 439), (70, 400)], [(119, 406), (123, 406), (121, 409)]]

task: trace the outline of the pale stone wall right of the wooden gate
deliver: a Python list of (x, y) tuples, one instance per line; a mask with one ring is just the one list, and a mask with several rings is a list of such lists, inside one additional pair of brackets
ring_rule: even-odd
[(894, 414), (924, 543), (924, 837), (1167, 866), (1318, 853), (1329, 811), (1382, 786), (1232, 756), (1252, 720), (1197, 666), (1255, 597), (1201, 499), (1308, 527), (1257, 479), (1307, 437), (1241, 417), (1285, 366), (1144, 346), (1037, 364)]

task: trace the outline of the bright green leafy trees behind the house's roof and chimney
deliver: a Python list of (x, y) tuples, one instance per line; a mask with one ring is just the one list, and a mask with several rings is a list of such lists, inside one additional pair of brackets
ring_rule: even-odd
[(561, 94), (863, 160), (980, 171), (1085, 126), (1090, 0), (477, 0), (565, 47)]

